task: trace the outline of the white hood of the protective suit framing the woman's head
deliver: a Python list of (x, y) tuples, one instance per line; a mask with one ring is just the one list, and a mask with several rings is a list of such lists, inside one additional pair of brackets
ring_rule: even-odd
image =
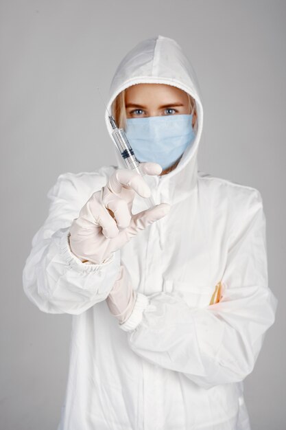
[[(157, 203), (174, 204), (187, 198), (198, 182), (198, 146), (202, 135), (202, 98), (195, 72), (174, 39), (155, 36), (138, 43), (121, 60), (110, 84), (107, 109), (111, 112), (112, 102), (124, 89), (134, 84), (168, 84), (186, 91), (195, 99), (198, 114), (198, 128), (193, 140), (183, 153), (178, 165), (162, 176), (145, 175)], [(108, 133), (115, 146), (115, 157), (119, 168), (126, 168), (119, 150), (112, 138), (112, 128), (105, 112)]]

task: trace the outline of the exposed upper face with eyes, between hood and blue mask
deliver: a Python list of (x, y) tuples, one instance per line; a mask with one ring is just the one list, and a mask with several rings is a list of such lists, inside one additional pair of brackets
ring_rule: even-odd
[[(165, 84), (136, 84), (126, 89), (126, 117), (144, 118), (191, 113), (187, 93)], [(195, 112), (193, 113), (193, 126)]]

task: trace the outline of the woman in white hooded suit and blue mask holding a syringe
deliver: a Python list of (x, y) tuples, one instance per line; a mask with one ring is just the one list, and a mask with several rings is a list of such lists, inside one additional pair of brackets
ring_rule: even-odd
[(73, 315), (58, 430), (249, 430), (277, 305), (261, 194), (198, 171), (202, 102), (171, 38), (123, 58), (107, 107), (145, 176), (116, 146), (117, 166), (60, 174), (23, 271), (40, 310)]

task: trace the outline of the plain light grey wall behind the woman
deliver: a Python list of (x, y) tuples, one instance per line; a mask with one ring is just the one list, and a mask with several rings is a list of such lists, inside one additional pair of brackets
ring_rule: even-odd
[(106, 99), (121, 58), (157, 34), (200, 82), (200, 170), (263, 196), (279, 303), (245, 393), (252, 430), (286, 428), (285, 12), (278, 0), (1, 0), (1, 429), (58, 425), (71, 316), (28, 301), (23, 266), (58, 175), (115, 163), (96, 87)]

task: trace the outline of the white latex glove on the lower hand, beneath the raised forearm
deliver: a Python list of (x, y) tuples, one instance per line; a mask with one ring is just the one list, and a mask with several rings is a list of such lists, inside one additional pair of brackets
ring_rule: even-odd
[(106, 297), (110, 313), (116, 317), (119, 324), (128, 319), (136, 302), (136, 291), (133, 290), (126, 268), (121, 265), (112, 290)]

